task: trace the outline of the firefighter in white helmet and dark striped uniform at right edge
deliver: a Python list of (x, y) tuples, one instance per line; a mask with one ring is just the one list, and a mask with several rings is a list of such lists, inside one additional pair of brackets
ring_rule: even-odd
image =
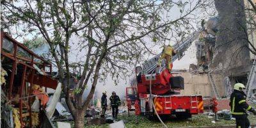
[(234, 85), (234, 92), (230, 95), (232, 117), (236, 118), (236, 127), (239, 128), (250, 127), (250, 121), (247, 118), (246, 110), (256, 115), (255, 109), (246, 103), (246, 95), (243, 92), (244, 89), (244, 84), (236, 83)]

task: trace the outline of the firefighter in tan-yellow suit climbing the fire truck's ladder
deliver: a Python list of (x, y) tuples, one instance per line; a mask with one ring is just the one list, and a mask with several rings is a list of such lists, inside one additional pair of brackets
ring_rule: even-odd
[(169, 70), (169, 72), (171, 72), (172, 67), (172, 56), (174, 56), (177, 52), (175, 51), (175, 49), (173, 49), (173, 47), (171, 45), (164, 45), (163, 48), (163, 52), (161, 54), (161, 57), (158, 60), (157, 63), (157, 67), (159, 67), (162, 63), (162, 60), (165, 59), (166, 60), (166, 67)]

